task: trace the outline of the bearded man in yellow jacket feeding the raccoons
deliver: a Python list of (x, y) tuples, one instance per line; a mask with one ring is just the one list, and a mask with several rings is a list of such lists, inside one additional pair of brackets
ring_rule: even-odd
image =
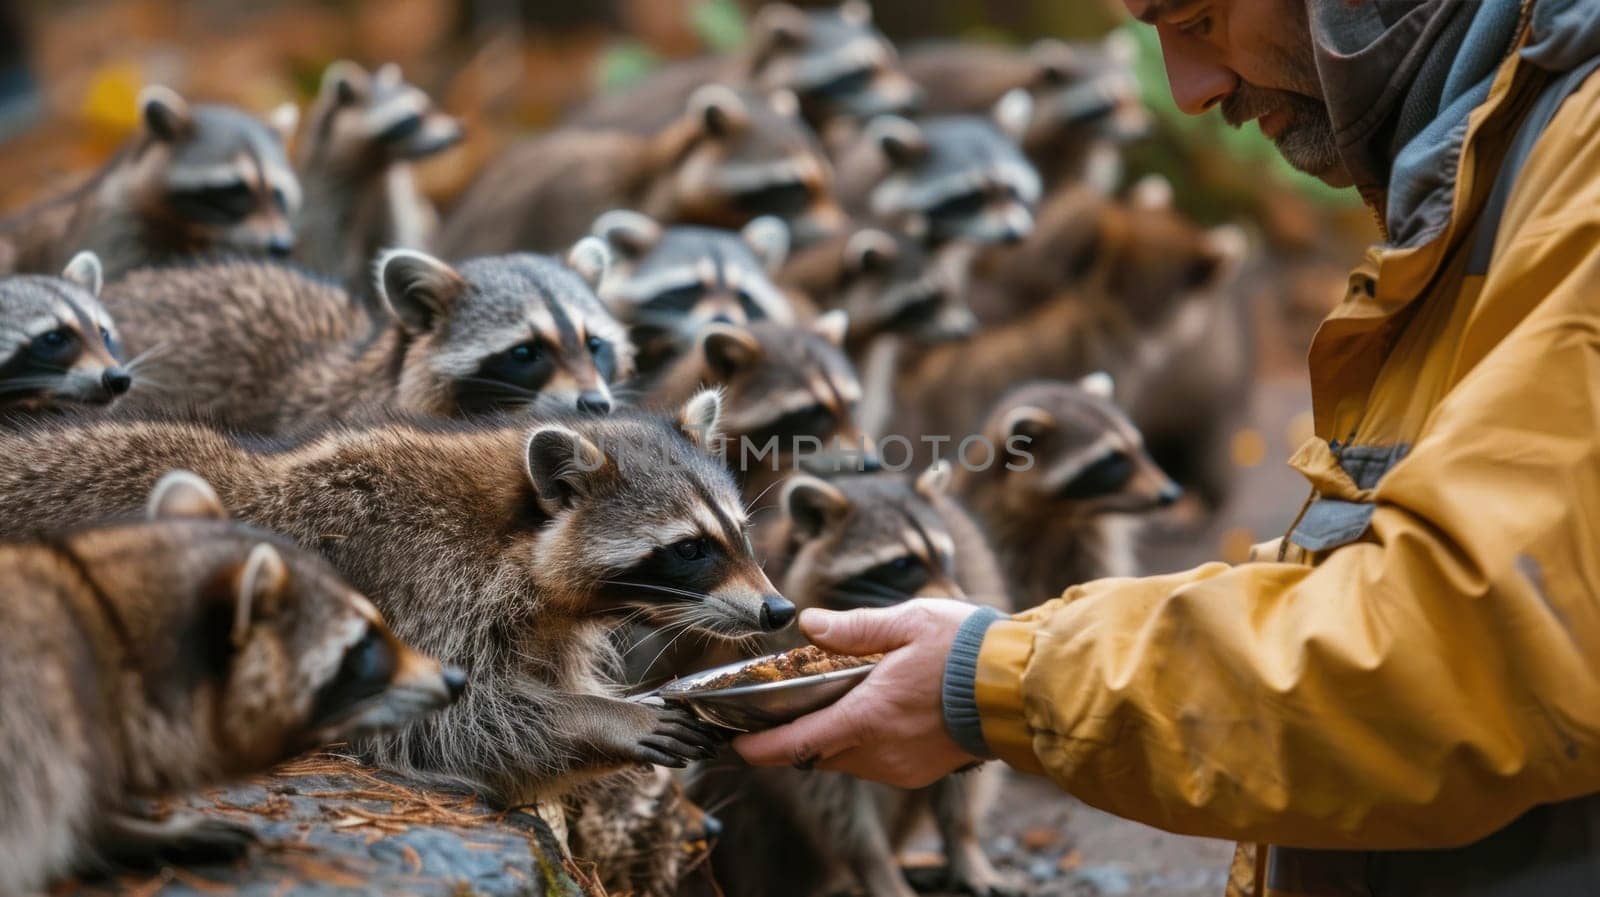
[(1384, 224), (1310, 350), (1310, 500), (1264, 563), (1014, 619), (808, 612), (888, 657), (738, 750), (907, 787), (998, 756), (1270, 844), (1234, 895), (1600, 894), (1600, 2), (1126, 5), (1186, 112)]

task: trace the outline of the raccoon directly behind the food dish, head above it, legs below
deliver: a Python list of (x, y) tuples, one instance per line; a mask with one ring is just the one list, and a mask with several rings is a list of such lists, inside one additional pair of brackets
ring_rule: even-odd
[[(934, 596), (1008, 608), (995, 558), (946, 494), (949, 480), (946, 464), (915, 480), (790, 478), (781, 516), (757, 531), (768, 572), (802, 608), (848, 611)], [(896, 851), (930, 811), (949, 860), (944, 884), (998, 895), (1008, 891), (976, 836), (998, 775), (998, 767), (981, 767), (904, 791), (837, 772), (749, 769), (725, 759), (696, 766), (690, 795), (718, 807), (723, 838), (712, 867), (730, 897), (858, 889), (909, 897)]]

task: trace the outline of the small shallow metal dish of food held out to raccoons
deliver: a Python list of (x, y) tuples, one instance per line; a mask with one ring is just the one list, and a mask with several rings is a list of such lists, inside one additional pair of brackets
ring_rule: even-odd
[(714, 726), (738, 732), (757, 732), (792, 723), (806, 713), (834, 704), (840, 697), (845, 697), (845, 692), (856, 688), (856, 683), (877, 667), (872, 662), (848, 670), (779, 680), (776, 683), (755, 683), (720, 689), (706, 688), (706, 683), (717, 676), (742, 670), (752, 664), (771, 660), (773, 657), (779, 657), (779, 654), (739, 660), (738, 664), (683, 676), (662, 686), (658, 694), (669, 704), (688, 707), (696, 716)]

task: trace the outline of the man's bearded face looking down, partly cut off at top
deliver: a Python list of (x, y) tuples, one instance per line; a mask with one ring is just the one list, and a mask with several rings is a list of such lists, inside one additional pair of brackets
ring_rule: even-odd
[(1304, 0), (1123, 0), (1155, 26), (1178, 107), (1258, 122), (1294, 168), (1349, 185), (1333, 139)]

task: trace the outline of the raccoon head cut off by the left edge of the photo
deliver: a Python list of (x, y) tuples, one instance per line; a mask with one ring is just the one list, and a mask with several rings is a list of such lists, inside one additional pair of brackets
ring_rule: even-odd
[(133, 387), (99, 291), (94, 253), (61, 277), (0, 278), (0, 417), (106, 406)]

